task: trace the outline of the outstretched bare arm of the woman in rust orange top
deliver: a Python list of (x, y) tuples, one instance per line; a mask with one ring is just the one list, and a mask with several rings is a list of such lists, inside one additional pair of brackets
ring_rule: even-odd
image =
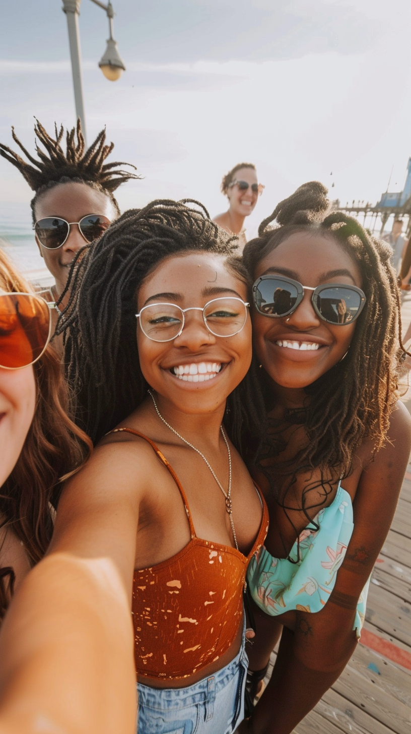
[(0, 634), (0, 731), (135, 732), (139, 501), (121, 454), (118, 444), (97, 449), (70, 480), (51, 550), (12, 600)]

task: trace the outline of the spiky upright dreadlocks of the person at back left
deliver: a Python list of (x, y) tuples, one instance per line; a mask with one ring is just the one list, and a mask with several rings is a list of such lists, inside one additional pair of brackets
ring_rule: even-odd
[[(114, 199), (113, 192), (121, 183), (129, 181), (131, 178), (140, 178), (139, 175), (124, 171), (117, 166), (135, 166), (131, 163), (123, 163), (115, 161), (113, 163), (104, 163), (107, 156), (112, 152), (114, 143), (106, 145), (106, 130), (103, 129), (98, 133), (95, 141), (92, 142), (90, 148), (85, 150), (84, 137), (81, 133), (80, 119), (77, 120), (76, 128), (66, 131), (66, 152), (62, 149), (60, 143), (64, 136), (64, 128), (57, 125), (54, 126), (55, 137), (48, 135), (43, 125), (36, 119), (34, 125), (34, 133), (40, 140), (46, 153), (35, 143), (37, 159), (30, 155), (29, 151), (24, 148), (23, 144), (15, 134), (12, 127), (12, 138), (23, 151), (29, 163), (24, 161), (18, 153), (8, 148), (7, 145), (0, 143), (0, 156), (21, 172), (23, 178), (26, 179), (30, 188), (35, 192), (35, 196), (30, 202), (32, 208), (33, 224), (36, 217), (34, 208), (37, 199), (48, 189), (58, 186), (59, 183), (86, 183), (92, 189), (97, 189), (109, 197), (112, 201), (117, 214), (120, 214), (120, 208)], [(32, 165), (30, 165), (30, 163)]]

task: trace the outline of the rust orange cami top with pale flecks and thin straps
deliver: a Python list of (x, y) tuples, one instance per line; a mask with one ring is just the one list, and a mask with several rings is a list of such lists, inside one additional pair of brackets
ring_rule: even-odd
[(134, 572), (132, 611), (134, 658), (139, 677), (184, 678), (217, 661), (236, 639), (243, 619), (242, 592), (247, 566), (266, 538), (269, 515), (263, 496), (258, 536), (248, 556), (236, 548), (198, 538), (186, 495), (175, 471), (156, 451), (172, 475), (189, 519), (191, 540), (172, 558)]

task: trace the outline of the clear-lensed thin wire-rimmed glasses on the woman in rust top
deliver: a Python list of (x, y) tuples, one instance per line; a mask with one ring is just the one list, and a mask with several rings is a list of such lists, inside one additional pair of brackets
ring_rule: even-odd
[(142, 333), (151, 341), (172, 341), (180, 336), (184, 328), (187, 311), (202, 311), (208, 331), (214, 336), (234, 336), (247, 321), (247, 306), (241, 298), (214, 298), (204, 308), (180, 308), (174, 303), (150, 303), (136, 313)]

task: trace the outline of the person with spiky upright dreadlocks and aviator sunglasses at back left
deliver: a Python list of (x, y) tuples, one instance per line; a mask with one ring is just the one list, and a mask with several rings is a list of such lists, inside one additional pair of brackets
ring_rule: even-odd
[[(13, 140), (29, 162), (0, 143), (0, 155), (15, 166), (35, 192), (32, 208), (35, 240), (40, 255), (54, 276), (52, 297), (58, 301), (65, 290), (68, 271), (76, 252), (101, 236), (120, 214), (113, 192), (138, 175), (117, 168), (120, 162), (105, 163), (114, 143), (106, 145), (101, 132), (85, 150), (80, 120), (66, 131), (66, 152), (62, 149), (64, 128), (55, 126), (55, 137), (48, 135), (36, 120), (34, 133), (46, 149), (35, 145), (37, 159), (23, 147), (12, 128)], [(132, 166), (134, 168), (134, 166)]]

